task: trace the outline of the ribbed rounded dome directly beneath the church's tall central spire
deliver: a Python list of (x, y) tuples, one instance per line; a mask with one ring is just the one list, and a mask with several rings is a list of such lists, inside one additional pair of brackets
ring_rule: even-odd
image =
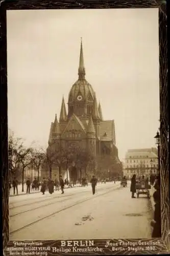
[(69, 92), (68, 96), (68, 102), (74, 102), (79, 99), (83, 101), (86, 100), (94, 100), (94, 90), (90, 83), (87, 82), (86, 79), (78, 79), (71, 87), (71, 90)]

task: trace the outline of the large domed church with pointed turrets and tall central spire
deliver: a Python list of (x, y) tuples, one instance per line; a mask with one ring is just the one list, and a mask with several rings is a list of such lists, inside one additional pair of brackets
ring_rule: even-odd
[[(82, 148), (96, 160), (95, 175), (101, 178), (113, 174), (115, 176), (115, 173), (117, 175), (122, 171), (122, 163), (118, 158), (114, 120), (103, 119), (101, 103), (98, 105), (96, 94), (85, 74), (81, 40), (78, 80), (68, 94), (68, 111), (63, 97), (59, 120), (56, 115), (51, 123), (47, 152), (58, 151), (59, 148)], [(72, 165), (68, 167), (70, 169)], [(71, 177), (80, 179), (86, 175), (83, 173), (80, 176), (78, 170), (73, 169), (72, 172), (69, 171)], [(56, 164), (52, 166), (52, 178), (54, 176), (58, 177)]]

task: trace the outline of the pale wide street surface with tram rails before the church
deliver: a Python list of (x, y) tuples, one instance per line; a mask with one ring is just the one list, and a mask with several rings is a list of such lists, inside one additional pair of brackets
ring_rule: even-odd
[(151, 238), (151, 201), (131, 198), (130, 182), (9, 198), (10, 240)]

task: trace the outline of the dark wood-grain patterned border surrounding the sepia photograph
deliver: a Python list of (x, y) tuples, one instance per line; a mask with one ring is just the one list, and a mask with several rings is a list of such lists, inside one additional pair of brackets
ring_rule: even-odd
[[(2, 159), (2, 221), (3, 247), (13, 246), (9, 241), (9, 195), (8, 195), (8, 115), (7, 115), (7, 10), (31, 9), (115, 9), (115, 8), (158, 8), (159, 9), (159, 92), (160, 92), (160, 176), (161, 176), (161, 239), (140, 239), (141, 241), (161, 241), (156, 251), (138, 251), (137, 254), (165, 254), (170, 252), (170, 224), (169, 224), (169, 158), (168, 158), (168, 95), (167, 95), (167, 6), (166, 1), (1, 1), (0, 2), (0, 67), (1, 67), (1, 159)], [(159, 127), (158, 127), (159, 128)], [(156, 132), (156, 131), (155, 131)], [(121, 238), (120, 238), (121, 239)], [(116, 242), (117, 239), (110, 239)], [(123, 239), (135, 242), (139, 239)], [(106, 240), (105, 240), (106, 241)], [(59, 245), (60, 240), (45, 240), (45, 246)], [(102, 240), (95, 240), (95, 244), (103, 246)], [(131, 254), (135, 252), (131, 252)], [(6, 255), (8, 252), (5, 253)], [(63, 254), (63, 253), (59, 253)], [(58, 255), (59, 255), (58, 254)], [(80, 255), (80, 253), (74, 253)], [(85, 253), (86, 254), (86, 253)], [(87, 253), (88, 254), (88, 253)], [(90, 254), (90, 253), (89, 253)], [(105, 254), (122, 254), (122, 252), (108, 251)], [(129, 254), (124, 252), (124, 254)], [(54, 255), (54, 254), (50, 254)]]

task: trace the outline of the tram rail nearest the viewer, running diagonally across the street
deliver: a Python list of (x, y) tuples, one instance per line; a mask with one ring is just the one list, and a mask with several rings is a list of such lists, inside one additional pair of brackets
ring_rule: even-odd
[(53, 212), (53, 213), (50, 214), (50, 215), (44, 216), (44, 217), (42, 217), (42, 218), (40, 218), (40, 219), (38, 219), (38, 220), (35, 220), (35, 221), (33, 221), (33, 222), (31, 222), (31, 223), (25, 225), (25, 226), (22, 226), (22, 227), (20, 227), (20, 228), (18, 228), (18, 229), (16, 229), (16, 230), (13, 230), (13, 231), (10, 232), (10, 234), (17, 233), (17, 232), (19, 232), (19, 231), (21, 231), (21, 230), (23, 230), (23, 229), (25, 229), (25, 228), (27, 228), (27, 227), (30, 227), (30, 226), (32, 226), (32, 225), (34, 225), (34, 224), (36, 224), (36, 223), (38, 223), (38, 222), (40, 222), (40, 221), (43, 221), (43, 220), (45, 220), (45, 219), (47, 219), (47, 218), (49, 218), (49, 217), (52, 217), (52, 216), (58, 214), (59, 212), (62, 212), (62, 211), (64, 211), (64, 210), (67, 210), (67, 209), (69, 209), (69, 208), (71, 208), (71, 207), (74, 207), (74, 206), (76, 206), (76, 205), (78, 205), (78, 204), (87, 202), (87, 201), (89, 201), (89, 200), (91, 200), (91, 199), (94, 199), (94, 198), (96, 198), (96, 197), (100, 197), (100, 196), (106, 195), (106, 194), (111, 193), (112, 191), (118, 190), (118, 189), (120, 189), (120, 188), (121, 188), (120, 186), (119, 186), (119, 187), (116, 187), (116, 188), (112, 188), (112, 189), (109, 189), (109, 191), (106, 191), (105, 193), (102, 193), (102, 194), (100, 194), (100, 195), (96, 195), (95, 197), (90, 197), (90, 198), (87, 198), (87, 199), (80, 200), (80, 201), (78, 201), (78, 202), (76, 202), (76, 203), (74, 203), (74, 204), (72, 204), (72, 205), (66, 206), (66, 207), (64, 207), (64, 208), (62, 208), (62, 209), (60, 209), (60, 210), (57, 210), (57, 211)]

